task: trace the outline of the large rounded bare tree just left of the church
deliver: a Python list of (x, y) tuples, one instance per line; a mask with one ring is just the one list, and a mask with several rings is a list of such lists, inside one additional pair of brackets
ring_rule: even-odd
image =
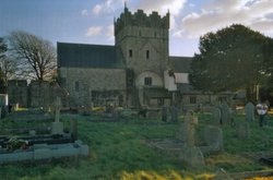
[(51, 43), (26, 32), (12, 32), (9, 41), (20, 76), (39, 81), (51, 79), (57, 64)]

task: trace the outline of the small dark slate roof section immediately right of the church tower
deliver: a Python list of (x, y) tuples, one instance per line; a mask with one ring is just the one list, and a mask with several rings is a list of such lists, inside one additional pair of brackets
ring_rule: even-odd
[(169, 61), (175, 72), (190, 72), (192, 57), (169, 57)]

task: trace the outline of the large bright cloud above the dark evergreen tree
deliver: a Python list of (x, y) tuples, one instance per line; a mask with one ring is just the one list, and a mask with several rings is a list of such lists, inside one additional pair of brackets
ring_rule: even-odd
[(214, 0), (202, 8), (178, 22), (176, 31), (182, 32), (180, 36), (195, 38), (235, 23), (273, 35), (273, 17), (269, 16), (273, 12), (272, 0)]

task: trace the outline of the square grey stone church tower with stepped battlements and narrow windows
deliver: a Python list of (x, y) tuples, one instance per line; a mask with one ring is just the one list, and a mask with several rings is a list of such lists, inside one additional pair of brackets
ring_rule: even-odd
[(168, 29), (169, 13), (162, 17), (157, 12), (146, 15), (138, 10), (132, 14), (126, 7), (115, 21), (115, 46), (120, 49), (127, 69), (133, 73), (132, 84), (136, 89), (133, 94), (139, 94), (140, 105), (147, 104), (145, 89), (164, 88), (164, 71), (169, 57)]

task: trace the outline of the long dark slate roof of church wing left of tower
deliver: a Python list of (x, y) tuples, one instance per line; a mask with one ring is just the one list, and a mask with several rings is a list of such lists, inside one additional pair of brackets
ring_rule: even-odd
[(115, 46), (57, 43), (58, 67), (123, 68), (121, 50)]

